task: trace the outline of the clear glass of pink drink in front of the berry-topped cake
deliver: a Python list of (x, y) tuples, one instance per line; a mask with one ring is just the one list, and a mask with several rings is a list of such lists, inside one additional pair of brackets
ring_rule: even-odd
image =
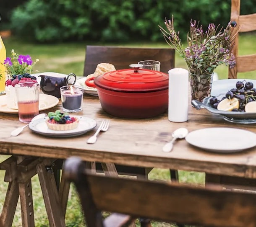
[(21, 122), (28, 123), (39, 113), (39, 92), (38, 83), (18, 83), (15, 86), (18, 102), (18, 117)]

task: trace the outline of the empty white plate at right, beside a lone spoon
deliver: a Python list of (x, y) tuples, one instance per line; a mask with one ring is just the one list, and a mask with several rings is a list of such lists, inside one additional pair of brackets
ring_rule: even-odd
[(256, 134), (235, 128), (206, 128), (188, 133), (186, 141), (204, 150), (231, 153), (256, 146)]

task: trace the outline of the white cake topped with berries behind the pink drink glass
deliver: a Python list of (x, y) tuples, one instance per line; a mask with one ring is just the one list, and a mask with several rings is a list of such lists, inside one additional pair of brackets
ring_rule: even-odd
[(16, 92), (14, 86), (18, 83), (32, 82), (37, 83), (37, 78), (29, 73), (23, 75), (12, 75), (5, 81), (6, 104), (10, 109), (18, 109)]

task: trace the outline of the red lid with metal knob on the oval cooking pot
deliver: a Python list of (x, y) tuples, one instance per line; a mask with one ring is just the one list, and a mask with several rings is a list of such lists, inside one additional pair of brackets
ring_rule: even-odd
[(169, 77), (166, 73), (140, 69), (137, 64), (131, 69), (107, 72), (94, 78), (100, 88), (120, 92), (152, 92), (168, 89)]

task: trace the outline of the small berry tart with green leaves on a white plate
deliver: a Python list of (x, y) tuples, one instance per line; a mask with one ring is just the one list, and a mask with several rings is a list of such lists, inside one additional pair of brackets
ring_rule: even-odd
[(60, 110), (49, 112), (46, 120), (47, 127), (52, 130), (64, 131), (75, 129), (79, 120), (76, 117), (61, 113)]

